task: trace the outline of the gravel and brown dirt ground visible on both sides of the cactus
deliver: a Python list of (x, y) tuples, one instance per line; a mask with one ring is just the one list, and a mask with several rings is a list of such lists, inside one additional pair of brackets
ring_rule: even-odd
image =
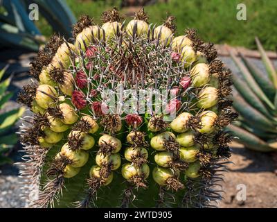
[[(230, 58), (222, 58), (233, 71), (238, 71)], [(260, 69), (264, 70), (260, 60), (253, 59)], [(10, 90), (18, 92), (29, 79), (16, 76)], [(14, 98), (15, 99), (15, 98)], [(8, 109), (14, 108), (15, 102), (10, 102)], [(18, 123), (19, 124), (19, 123)], [(18, 126), (17, 124), (17, 126)], [(11, 153), (12, 159), (17, 162), (20, 155), (19, 146)], [(277, 176), (274, 173), (276, 166), (271, 153), (256, 153), (249, 151), (239, 144), (232, 144), (233, 155), (229, 165), (229, 172), (224, 174), (224, 200), (219, 207), (277, 207)], [(275, 163), (276, 164), (276, 163)], [(238, 200), (238, 185), (245, 185), (246, 200)], [(0, 207), (24, 207), (20, 196), (22, 191), (19, 185), (18, 169), (15, 166), (0, 168)]]

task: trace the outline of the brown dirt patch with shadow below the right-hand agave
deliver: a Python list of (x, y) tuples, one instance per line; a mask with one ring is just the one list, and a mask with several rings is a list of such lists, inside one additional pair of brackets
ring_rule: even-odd
[[(224, 174), (224, 200), (219, 207), (277, 207), (277, 176), (271, 153), (258, 153), (232, 144), (233, 164)], [(246, 200), (240, 199), (240, 187), (246, 188)], [(237, 196), (239, 198), (237, 198)]]

